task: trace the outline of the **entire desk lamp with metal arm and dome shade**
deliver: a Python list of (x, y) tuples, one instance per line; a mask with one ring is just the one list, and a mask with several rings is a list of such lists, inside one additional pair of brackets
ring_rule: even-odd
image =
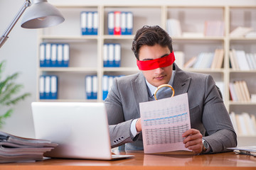
[[(31, 7), (28, 8), (29, 6)], [(26, 0), (20, 11), (18, 11), (14, 17), (13, 21), (11, 21), (9, 27), (0, 37), (0, 48), (8, 39), (11, 29), (14, 28), (26, 8), (28, 8), (28, 10), (21, 21), (22, 28), (46, 28), (63, 23), (65, 20), (60, 11), (58, 11), (54, 6), (48, 4), (47, 0), (33, 0), (33, 3), (31, 3), (31, 0)]]

